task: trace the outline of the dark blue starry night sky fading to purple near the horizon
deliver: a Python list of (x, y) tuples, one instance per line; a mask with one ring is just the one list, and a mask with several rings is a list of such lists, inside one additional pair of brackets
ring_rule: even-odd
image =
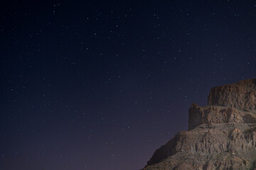
[(5, 1), (0, 169), (132, 170), (191, 103), (256, 75), (255, 1)]

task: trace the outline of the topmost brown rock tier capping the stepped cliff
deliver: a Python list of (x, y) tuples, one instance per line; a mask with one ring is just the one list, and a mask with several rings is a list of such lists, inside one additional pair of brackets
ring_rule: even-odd
[(213, 87), (208, 96), (208, 106), (228, 106), (242, 111), (255, 111), (256, 79)]

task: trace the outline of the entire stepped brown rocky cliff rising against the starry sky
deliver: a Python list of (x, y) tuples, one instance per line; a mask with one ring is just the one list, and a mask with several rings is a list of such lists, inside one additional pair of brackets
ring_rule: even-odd
[(156, 149), (149, 169), (255, 169), (256, 79), (217, 86), (189, 109), (188, 131)]

